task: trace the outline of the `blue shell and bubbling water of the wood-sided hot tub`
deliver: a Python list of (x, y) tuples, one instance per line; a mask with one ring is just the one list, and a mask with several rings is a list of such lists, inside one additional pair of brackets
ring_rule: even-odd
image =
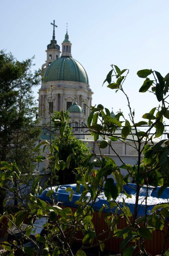
[[(116, 185), (116, 183), (115, 183)], [(69, 200), (69, 191), (66, 191), (68, 187), (71, 187), (74, 191), (72, 201)], [(149, 186), (148, 188), (148, 197), (147, 197), (147, 214), (149, 211), (152, 210), (153, 206), (155, 204), (159, 203), (167, 203), (167, 199), (169, 198), (169, 187), (164, 190), (164, 192), (160, 195), (160, 198), (158, 198), (158, 190), (160, 187), (152, 187)], [(69, 207), (75, 207), (77, 208), (77, 204), (75, 202), (80, 198), (81, 193), (83, 191), (83, 186), (80, 185), (80, 192), (76, 191), (76, 184), (69, 184), (69, 185), (60, 185), (57, 189), (55, 190), (55, 187), (52, 187), (53, 189), (53, 197), (56, 203), (59, 202), (59, 204), (69, 206)], [(136, 193), (136, 184), (127, 184), (123, 186), (124, 191), (120, 193), (116, 201), (122, 206), (123, 203), (123, 198), (125, 199), (126, 206), (129, 207), (131, 213), (133, 214), (134, 211), (134, 205), (135, 205), (135, 193)], [(46, 192), (49, 191), (50, 188), (46, 188), (42, 194), (40, 195), (40, 199), (52, 203), (52, 200), (50, 199), (49, 196), (46, 196)], [(127, 192), (128, 195), (131, 195), (131, 198), (127, 198), (125, 195), (125, 192)], [(139, 192), (139, 207), (138, 207), (138, 214), (137, 217), (145, 215), (145, 196), (146, 196), (146, 186), (141, 187), (140, 192)], [(86, 195), (89, 199), (89, 205), (92, 204), (92, 200), (90, 200), (90, 190), (89, 193)], [(103, 209), (103, 212), (109, 212), (109, 211), (115, 211), (114, 209), (110, 209), (109, 203), (104, 195), (104, 190), (101, 191), (100, 195), (98, 196), (96, 202), (93, 205), (94, 211), (99, 211), (100, 208), (102, 208), (103, 204), (106, 204), (108, 207)]]

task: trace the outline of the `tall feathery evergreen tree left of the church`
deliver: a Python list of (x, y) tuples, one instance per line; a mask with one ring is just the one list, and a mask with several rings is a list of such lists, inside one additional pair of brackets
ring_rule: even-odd
[(32, 73), (32, 61), (20, 62), (11, 53), (0, 52), (0, 160), (16, 161), (27, 174), (35, 168), (32, 150), (40, 135), (33, 89), (41, 73)]

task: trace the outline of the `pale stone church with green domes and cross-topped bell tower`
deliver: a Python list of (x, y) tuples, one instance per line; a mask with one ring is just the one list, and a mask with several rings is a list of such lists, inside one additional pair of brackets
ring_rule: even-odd
[[(49, 121), (49, 112), (69, 110), (74, 133), (83, 133), (80, 127), (87, 123), (92, 105), (92, 90), (83, 66), (71, 54), (71, 42), (66, 31), (62, 49), (55, 40), (55, 21), (53, 37), (47, 45), (46, 62), (42, 65), (43, 79), (39, 90), (39, 116), (42, 124)], [(52, 96), (50, 90), (52, 88)], [(52, 97), (52, 100), (51, 100)], [(50, 111), (49, 111), (50, 110)], [(83, 136), (80, 136), (83, 138)]]

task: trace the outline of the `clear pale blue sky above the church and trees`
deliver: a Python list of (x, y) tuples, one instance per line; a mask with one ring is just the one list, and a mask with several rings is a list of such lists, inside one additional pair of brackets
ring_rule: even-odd
[[(93, 94), (93, 105), (120, 108), (127, 115), (127, 101), (102, 83), (115, 64), (128, 68), (124, 89), (135, 109), (136, 121), (159, 103), (152, 93), (138, 93), (143, 79), (136, 72), (144, 68), (169, 72), (168, 0), (6, 0), (1, 1), (0, 49), (18, 59), (35, 55), (36, 69), (46, 60), (52, 39), (50, 22), (55, 20), (57, 43), (61, 47), (68, 22), (72, 57), (85, 68)], [(35, 90), (38, 98), (39, 88)], [(169, 124), (168, 120), (166, 124)]]

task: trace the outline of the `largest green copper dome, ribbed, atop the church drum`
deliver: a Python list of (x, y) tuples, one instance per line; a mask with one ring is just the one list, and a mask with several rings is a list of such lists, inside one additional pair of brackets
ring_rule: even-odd
[(88, 76), (83, 66), (71, 57), (61, 57), (53, 61), (44, 75), (48, 81), (75, 81), (89, 84)]

